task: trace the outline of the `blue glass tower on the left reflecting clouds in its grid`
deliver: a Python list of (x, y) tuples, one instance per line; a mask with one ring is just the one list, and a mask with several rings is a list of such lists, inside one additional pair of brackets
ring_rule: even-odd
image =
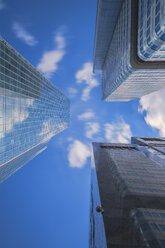
[(0, 38), (0, 182), (68, 125), (68, 98)]

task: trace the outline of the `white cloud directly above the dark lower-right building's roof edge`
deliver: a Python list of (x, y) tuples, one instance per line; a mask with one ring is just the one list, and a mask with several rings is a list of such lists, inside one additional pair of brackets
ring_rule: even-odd
[(104, 125), (105, 138), (112, 143), (128, 143), (132, 136), (130, 125), (124, 120)]

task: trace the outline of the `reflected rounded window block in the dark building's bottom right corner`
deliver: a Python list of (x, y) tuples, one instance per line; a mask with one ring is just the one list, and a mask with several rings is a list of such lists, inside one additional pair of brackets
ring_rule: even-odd
[(130, 213), (132, 248), (165, 247), (165, 210), (137, 208)]

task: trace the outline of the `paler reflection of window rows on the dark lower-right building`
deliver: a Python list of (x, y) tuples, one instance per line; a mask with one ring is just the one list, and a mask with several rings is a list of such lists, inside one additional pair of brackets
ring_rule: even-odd
[[(118, 146), (119, 147), (119, 146)], [(121, 146), (105, 149), (111, 172), (121, 190), (132, 194), (165, 196), (165, 167), (160, 166), (136, 149)]]

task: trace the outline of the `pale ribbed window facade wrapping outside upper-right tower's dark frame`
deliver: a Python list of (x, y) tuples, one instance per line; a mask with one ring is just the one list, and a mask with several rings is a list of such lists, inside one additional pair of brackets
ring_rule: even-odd
[(165, 70), (131, 64), (131, 0), (123, 1), (103, 66), (102, 97), (106, 101), (128, 101), (164, 86)]

